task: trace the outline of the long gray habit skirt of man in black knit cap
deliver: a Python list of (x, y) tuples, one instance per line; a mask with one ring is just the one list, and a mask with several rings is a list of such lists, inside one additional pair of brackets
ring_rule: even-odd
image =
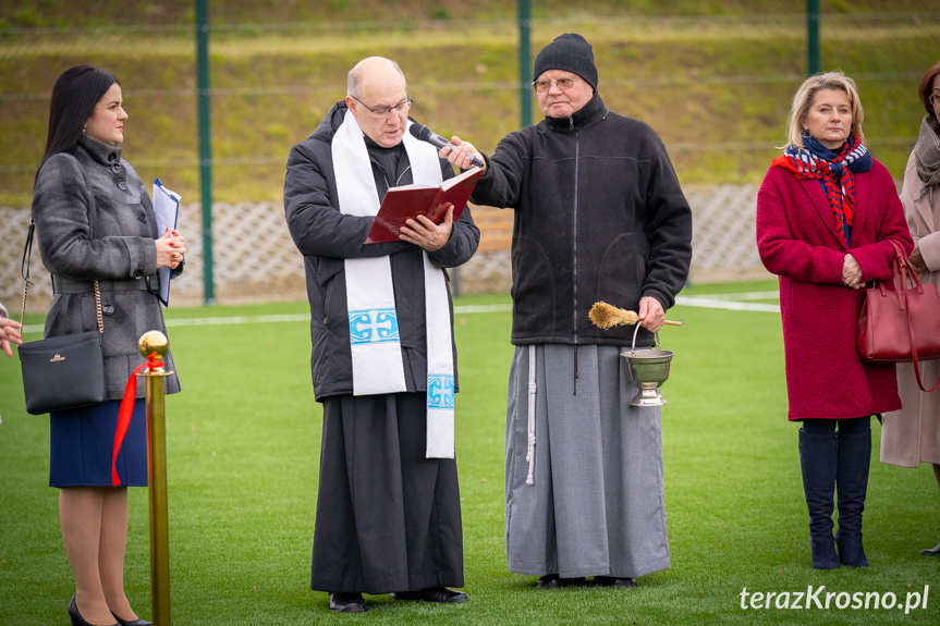
[(506, 405), (509, 569), (626, 578), (669, 568), (661, 409), (630, 405), (637, 388), (621, 348), (538, 345), (530, 450), (529, 348), (515, 349)]

